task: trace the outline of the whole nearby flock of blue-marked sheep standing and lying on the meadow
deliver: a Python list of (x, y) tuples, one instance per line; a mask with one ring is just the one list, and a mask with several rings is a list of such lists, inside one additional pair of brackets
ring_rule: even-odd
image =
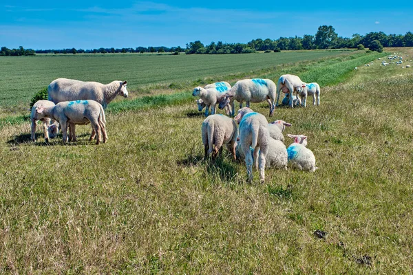
[[(115, 80), (103, 85), (96, 82), (83, 82), (67, 78), (58, 78), (47, 87), (47, 99), (39, 100), (32, 107), (32, 141), (36, 140), (36, 122), (43, 122), (46, 142), (61, 129), (63, 142), (76, 141), (76, 124), (92, 124), (92, 135), (96, 144), (107, 141), (105, 108), (118, 95), (127, 97), (127, 82)], [(270, 116), (278, 106), (279, 96), (285, 94), (283, 104), (290, 107), (306, 107), (306, 99), (313, 96), (313, 104), (319, 105), (320, 88), (317, 83), (304, 83), (298, 76), (285, 74), (277, 85), (271, 79), (239, 80), (233, 87), (229, 83), (219, 82), (193, 89), (198, 110), (205, 110), (207, 119), (202, 123), (202, 142), (205, 157), (212, 153), (212, 158), (222, 151), (227, 144), (234, 159), (245, 159), (248, 179), (253, 179), (252, 166), (260, 169), (260, 179), (264, 181), (265, 166), (287, 168), (288, 162), (300, 170), (315, 171), (315, 157), (306, 148), (305, 135), (288, 135), (294, 142), (288, 148), (284, 145), (284, 131), (291, 126), (283, 120), (268, 124), (264, 115), (250, 109), (251, 102), (268, 102)], [(296, 96), (294, 96), (294, 92)], [(277, 100), (275, 100), (277, 98)], [(240, 102), (240, 109), (234, 119), (225, 115), (215, 115), (216, 105), (226, 109), (226, 114), (235, 115), (234, 102)], [(246, 107), (242, 103), (246, 102)], [(211, 115), (209, 108), (211, 107)], [(50, 124), (50, 122), (52, 122)], [(239, 129), (237, 124), (240, 124)], [(69, 131), (69, 137), (67, 137)]]

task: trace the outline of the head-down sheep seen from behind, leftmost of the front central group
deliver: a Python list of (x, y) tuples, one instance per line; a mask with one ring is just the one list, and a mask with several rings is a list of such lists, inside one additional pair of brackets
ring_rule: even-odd
[(235, 143), (237, 141), (237, 124), (235, 120), (225, 115), (209, 115), (202, 122), (202, 144), (204, 144), (205, 158), (212, 153), (212, 159), (222, 152), (222, 145), (226, 144), (234, 159)]

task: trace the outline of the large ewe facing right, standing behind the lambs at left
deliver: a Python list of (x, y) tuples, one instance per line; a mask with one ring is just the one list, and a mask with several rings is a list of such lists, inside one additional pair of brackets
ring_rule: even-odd
[(127, 98), (127, 81), (115, 80), (109, 84), (83, 82), (74, 79), (58, 78), (47, 87), (47, 98), (57, 104), (71, 100), (94, 100), (106, 109), (107, 104), (118, 95)]

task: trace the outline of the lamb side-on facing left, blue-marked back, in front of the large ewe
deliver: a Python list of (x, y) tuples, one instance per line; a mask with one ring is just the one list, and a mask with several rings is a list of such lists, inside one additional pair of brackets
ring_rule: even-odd
[[(76, 100), (59, 102), (55, 106), (36, 107), (34, 119), (50, 118), (60, 123), (63, 133), (63, 143), (67, 142), (67, 126), (70, 125), (71, 133), (74, 135), (75, 124), (92, 124), (94, 131), (89, 140), (97, 134), (96, 144), (100, 143), (100, 131), (103, 134), (103, 143), (107, 140), (105, 129), (105, 111), (103, 106), (94, 100)], [(76, 139), (76, 137), (74, 137)]]

